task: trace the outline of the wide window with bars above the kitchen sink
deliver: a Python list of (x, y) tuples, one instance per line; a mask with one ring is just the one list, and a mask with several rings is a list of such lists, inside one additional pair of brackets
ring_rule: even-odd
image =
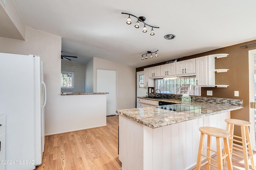
[(200, 96), (200, 87), (196, 86), (196, 77), (182, 77), (177, 79), (156, 79), (155, 89), (166, 94), (189, 94)]

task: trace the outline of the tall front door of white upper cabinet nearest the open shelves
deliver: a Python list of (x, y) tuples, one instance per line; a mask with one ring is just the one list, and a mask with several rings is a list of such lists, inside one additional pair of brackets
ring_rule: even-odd
[(206, 56), (196, 58), (196, 80), (198, 86), (207, 84)]

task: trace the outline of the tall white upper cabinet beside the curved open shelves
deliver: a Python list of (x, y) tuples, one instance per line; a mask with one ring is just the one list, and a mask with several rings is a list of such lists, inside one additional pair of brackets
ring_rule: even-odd
[(197, 86), (215, 86), (214, 57), (204, 56), (196, 58), (196, 81)]

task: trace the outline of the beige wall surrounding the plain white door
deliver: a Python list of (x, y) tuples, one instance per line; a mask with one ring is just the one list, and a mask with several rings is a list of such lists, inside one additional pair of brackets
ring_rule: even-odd
[(136, 68), (94, 58), (94, 92), (97, 89), (97, 69), (117, 72), (117, 109), (135, 108)]

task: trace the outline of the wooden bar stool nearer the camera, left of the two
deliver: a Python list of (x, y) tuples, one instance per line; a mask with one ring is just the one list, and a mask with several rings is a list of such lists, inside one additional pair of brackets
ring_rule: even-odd
[[(223, 129), (219, 129), (216, 127), (200, 127), (199, 131), (200, 135), (200, 143), (198, 149), (196, 170), (200, 170), (201, 166), (207, 164), (207, 169), (210, 169), (210, 166), (217, 168), (218, 170), (223, 170), (223, 159), (227, 158), (228, 170), (233, 170), (230, 149), (228, 145), (228, 137), (230, 133)], [(204, 148), (204, 135), (207, 135), (207, 147)], [(216, 151), (211, 149), (211, 137), (216, 137)], [(224, 149), (226, 154), (222, 154), (221, 140), (224, 140)], [(207, 155), (203, 154), (203, 151), (207, 149)], [(217, 160), (211, 157), (211, 152), (215, 152), (217, 154)], [(206, 157), (206, 162), (202, 163), (202, 156)], [(217, 162), (217, 166), (211, 164), (211, 161)]]

